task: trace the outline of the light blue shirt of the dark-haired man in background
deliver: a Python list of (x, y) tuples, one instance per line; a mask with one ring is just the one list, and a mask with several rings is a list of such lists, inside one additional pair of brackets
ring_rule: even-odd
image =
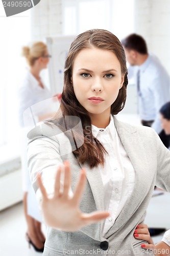
[(152, 128), (159, 134), (162, 130), (159, 110), (170, 98), (169, 75), (159, 59), (154, 55), (149, 55), (142, 65), (128, 69), (128, 78), (134, 77), (136, 84), (138, 70), (140, 71), (140, 93), (138, 93), (139, 116), (141, 120), (155, 120)]

